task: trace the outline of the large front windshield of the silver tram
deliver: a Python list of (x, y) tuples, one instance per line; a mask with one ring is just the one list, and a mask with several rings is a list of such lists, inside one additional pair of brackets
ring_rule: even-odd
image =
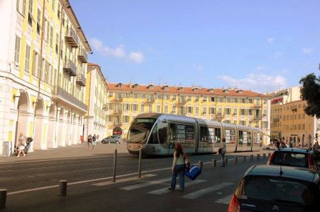
[(156, 118), (135, 118), (129, 128), (127, 143), (145, 143)]

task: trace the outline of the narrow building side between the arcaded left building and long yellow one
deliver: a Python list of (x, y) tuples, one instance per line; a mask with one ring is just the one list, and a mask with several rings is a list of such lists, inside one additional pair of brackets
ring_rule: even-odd
[(88, 106), (85, 114), (85, 138), (99, 135), (101, 140), (107, 136), (107, 82), (100, 66), (88, 63), (87, 91), (85, 101)]

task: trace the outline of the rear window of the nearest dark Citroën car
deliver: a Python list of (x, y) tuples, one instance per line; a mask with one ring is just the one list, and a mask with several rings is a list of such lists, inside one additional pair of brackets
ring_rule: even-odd
[(292, 179), (255, 177), (245, 180), (241, 198), (311, 205), (319, 200), (319, 188), (315, 184)]

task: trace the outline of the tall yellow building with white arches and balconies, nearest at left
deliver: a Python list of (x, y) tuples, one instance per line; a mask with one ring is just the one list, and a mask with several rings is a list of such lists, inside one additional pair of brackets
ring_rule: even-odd
[(31, 151), (79, 143), (91, 49), (69, 1), (0, 1), (0, 26), (0, 154), (19, 132)]

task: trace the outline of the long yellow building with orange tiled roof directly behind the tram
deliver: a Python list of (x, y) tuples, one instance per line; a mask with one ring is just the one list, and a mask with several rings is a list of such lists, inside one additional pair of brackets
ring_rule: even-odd
[(168, 84), (107, 83), (108, 135), (122, 134), (139, 113), (173, 113), (225, 123), (250, 125), (265, 131), (268, 142), (270, 96), (240, 89), (170, 87)]

